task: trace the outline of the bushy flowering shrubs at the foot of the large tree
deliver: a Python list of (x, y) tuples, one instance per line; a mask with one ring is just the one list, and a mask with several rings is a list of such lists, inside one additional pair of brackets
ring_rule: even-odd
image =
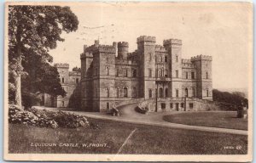
[(59, 126), (67, 128), (90, 126), (87, 118), (83, 115), (75, 115), (63, 111), (54, 112), (36, 109), (23, 111), (13, 104), (9, 104), (9, 122), (52, 128)]

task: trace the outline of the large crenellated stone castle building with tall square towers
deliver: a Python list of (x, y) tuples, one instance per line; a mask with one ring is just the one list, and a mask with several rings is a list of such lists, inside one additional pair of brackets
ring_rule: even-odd
[[(101, 45), (96, 41), (84, 45), (80, 59), (81, 75), (76, 77), (81, 77), (79, 108), (84, 111), (108, 111), (136, 98), (155, 99), (155, 111), (193, 110), (196, 101), (212, 100), (212, 57), (183, 59), (182, 40), (157, 45), (155, 37), (138, 37), (132, 53), (128, 42)], [(67, 67), (58, 69), (67, 76)], [(57, 100), (57, 106), (61, 103)]]

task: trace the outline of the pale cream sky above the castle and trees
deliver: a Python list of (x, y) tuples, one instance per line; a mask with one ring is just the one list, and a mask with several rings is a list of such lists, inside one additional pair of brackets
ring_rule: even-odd
[(182, 57), (212, 56), (213, 88), (247, 88), (252, 77), (253, 17), (248, 3), (70, 3), (79, 19), (78, 31), (62, 33), (50, 51), (54, 63), (80, 67), (83, 46), (129, 42), (137, 37), (183, 41)]

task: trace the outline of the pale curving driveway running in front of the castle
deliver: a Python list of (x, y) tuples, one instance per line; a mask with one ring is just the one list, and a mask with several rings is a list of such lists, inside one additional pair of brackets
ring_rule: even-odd
[[(148, 113), (147, 115), (143, 115), (137, 113), (135, 111), (135, 107), (137, 104), (127, 104), (121, 106), (120, 116), (112, 116), (107, 115), (106, 113), (98, 113), (98, 112), (82, 112), (82, 111), (70, 111), (78, 115), (85, 115), (90, 118), (102, 119), (102, 120), (110, 120), (110, 121), (122, 121), (134, 124), (142, 124), (142, 125), (151, 125), (151, 126), (166, 126), (172, 128), (181, 128), (187, 130), (197, 130), (202, 132), (224, 132), (238, 135), (247, 135), (247, 131), (245, 130), (236, 130), (236, 129), (228, 129), (228, 128), (218, 128), (218, 127), (210, 127), (210, 126), (189, 126), (177, 123), (170, 123), (164, 121), (162, 119), (163, 115), (171, 115), (171, 114), (179, 114), (182, 112), (159, 112), (159, 113)], [(44, 107), (36, 107), (38, 109), (46, 109), (46, 110), (58, 110), (53, 108), (44, 108)]]

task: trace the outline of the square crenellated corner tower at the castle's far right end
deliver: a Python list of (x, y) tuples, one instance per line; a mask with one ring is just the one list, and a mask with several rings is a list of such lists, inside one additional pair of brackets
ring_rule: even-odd
[(197, 98), (212, 100), (212, 57), (198, 55), (191, 62), (196, 67)]

